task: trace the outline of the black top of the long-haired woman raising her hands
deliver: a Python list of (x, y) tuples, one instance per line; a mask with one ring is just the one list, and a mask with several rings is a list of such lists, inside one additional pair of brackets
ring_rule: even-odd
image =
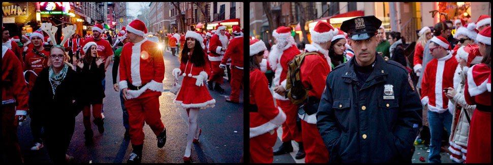
[(103, 79), (105, 78), (104, 63), (96, 64), (96, 59), (93, 60), (90, 70), (89, 65), (84, 63), (84, 67), (77, 67), (77, 73), (81, 77), (82, 89), (82, 104), (102, 104), (105, 97), (103, 90)]

